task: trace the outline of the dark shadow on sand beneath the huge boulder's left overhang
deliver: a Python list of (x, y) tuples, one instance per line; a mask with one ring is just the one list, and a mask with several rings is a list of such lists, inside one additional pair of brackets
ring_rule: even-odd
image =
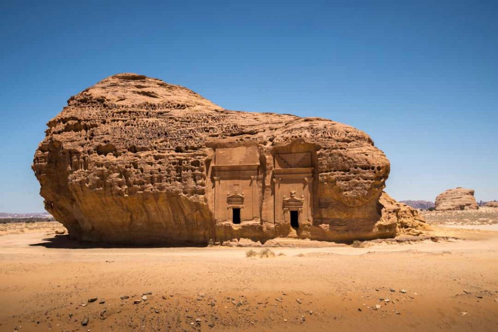
[(89, 248), (183, 248), (183, 247), (207, 247), (208, 243), (164, 243), (164, 244), (113, 244), (104, 242), (77, 241), (69, 238), (69, 235), (55, 235), (43, 239), (44, 242), (32, 243), (30, 246), (41, 246), (57, 249), (89, 249)]

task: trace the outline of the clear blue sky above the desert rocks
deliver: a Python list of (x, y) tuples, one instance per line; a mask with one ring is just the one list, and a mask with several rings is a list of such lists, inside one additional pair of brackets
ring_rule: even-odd
[(1, 1), (0, 212), (43, 210), (45, 123), (120, 72), (360, 128), (398, 200), (498, 199), (497, 1), (240, 2)]

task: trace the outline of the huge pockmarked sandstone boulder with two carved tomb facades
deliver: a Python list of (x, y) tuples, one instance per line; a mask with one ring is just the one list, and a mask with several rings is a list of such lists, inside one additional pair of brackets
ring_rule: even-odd
[(71, 97), (32, 166), (72, 238), (207, 243), (392, 237), (423, 225), (382, 190), (389, 161), (324, 118), (229, 111), (136, 74)]

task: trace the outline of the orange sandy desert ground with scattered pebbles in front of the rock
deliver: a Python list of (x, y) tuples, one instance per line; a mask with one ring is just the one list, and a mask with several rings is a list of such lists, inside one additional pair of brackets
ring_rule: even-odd
[(84, 246), (52, 228), (0, 236), (0, 331), (498, 331), (495, 231), (363, 248), (282, 239), (275, 257), (247, 258)]

